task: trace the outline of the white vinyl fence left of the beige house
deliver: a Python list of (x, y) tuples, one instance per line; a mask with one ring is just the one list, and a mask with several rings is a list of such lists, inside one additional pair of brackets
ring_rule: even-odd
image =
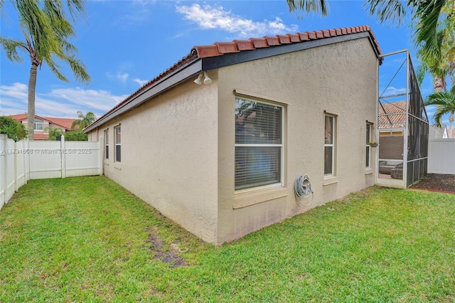
[(0, 134), (0, 209), (30, 179), (102, 175), (102, 140), (14, 142)]

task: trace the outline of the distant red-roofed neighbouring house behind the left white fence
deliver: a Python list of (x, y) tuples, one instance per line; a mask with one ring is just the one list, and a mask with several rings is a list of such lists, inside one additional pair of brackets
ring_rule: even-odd
[[(16, 121), (21, 122), (27, 128), (27, 114), (20, 114), (20, 115), (11, 115), (9, 116)], [(69, 119), (69, 118), (55, 118), (55, 117), (40, 117), (35, 115), (35, 124), (33, 125), (33, 139), (34, 140), (45, 140), (49, 139), (49, 134), (46, 132), (46, 129), (55, 129), (60, 128), (63, 129), (65, 132), (70, 132), (71, 124), (76, 119)], [(76, 127), (78, 129), (78, 127)]]

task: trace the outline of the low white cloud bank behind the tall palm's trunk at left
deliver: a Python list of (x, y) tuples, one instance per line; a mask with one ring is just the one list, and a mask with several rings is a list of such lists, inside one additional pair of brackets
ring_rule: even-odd
[[(111, 95), (105, 90), (84, 90), (80, 87), (58, 88), (37, 92), (36, 115), (75, 118), (78, 110), (93, 112), (97, 117), (122, 102), (127, 95)], [(27, 85), (14, 83), (0, 86), (1, 115), (17, 115), (27, 111)]]

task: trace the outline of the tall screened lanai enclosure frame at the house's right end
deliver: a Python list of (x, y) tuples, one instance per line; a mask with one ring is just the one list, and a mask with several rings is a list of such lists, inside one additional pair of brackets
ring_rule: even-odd
[[(402, 187), (407, 188), (415, 182), (422, 179), (427, 174), (428, 168), (428, 138), (429, 138), (429, 122), (427, 111), (425, 110), (422, 94), (420, 93), (419, 83), (414, 72), (410, 51), (397, 50), (392, 53), (381, 55), (382, 58), (390, 55), (406, 53), (406, 92), (398, 95), (379, 95), (380, 83), (378, 81), (378, 123), (379, 123), (379, 107), (381, 100), (390, 97), (405, 96), (406, 100), (406, 115), (405, 129), (403, 133), (403, 178)], [(379, 67), (378, 67), (379, 68)], [(401, 68), (401, 66), (400, 66)], [(379, 70), (378, 70), (379, 75)], [(395, 74), (396, 75), (396, 74)], [(395, 76), (394, 76), (395, 77)], [(387, 87), (390, 83), (387, 85)], [(387, 90), (385, 87), (384, 92)], [(380, 141), (379, 124), (376, 128), (376, 135)], [(379, 153), (377, 153), (377, 163), (379, 163)], [(377, 172), (377, 180), (379, 179), (379, 171)], [(378, 182), (380, 183), (380, 182)]]

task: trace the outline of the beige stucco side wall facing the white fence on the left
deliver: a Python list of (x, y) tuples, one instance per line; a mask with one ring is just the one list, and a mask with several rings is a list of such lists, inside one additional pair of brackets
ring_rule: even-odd
[[(210, 75), (212, 77), (212, 75)], [(192, 80), (90, 132), (109, 129), (105, 175), (203, 240), (217, 222), (217, 81)], [(114, 163), (114, 127), (122, 127), (122, 163)]]

